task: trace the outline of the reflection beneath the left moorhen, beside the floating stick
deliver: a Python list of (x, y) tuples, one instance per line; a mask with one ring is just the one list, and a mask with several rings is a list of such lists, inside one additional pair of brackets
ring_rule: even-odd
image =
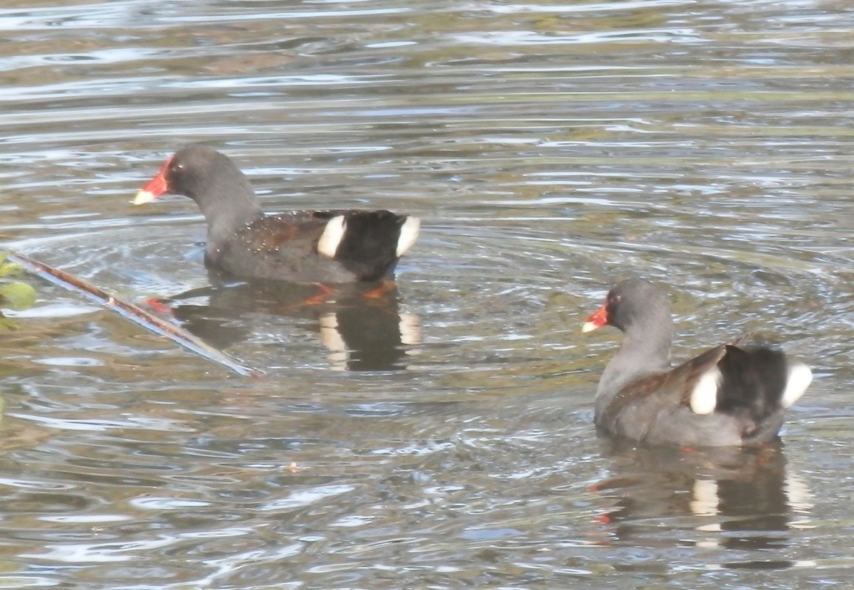
[[(418, 317), (401, 313), (394, 283), (338, 285), (318, 299), (318, 285), (282, 282), (215, 283), (162, 301), (173, 317), (213, 347), (249, 339), (254, 313), (309, 320), (333, 367), (350, 371), (405, 368), (420, 342)], [(318, 300), (315, 303), (307, 301)]]

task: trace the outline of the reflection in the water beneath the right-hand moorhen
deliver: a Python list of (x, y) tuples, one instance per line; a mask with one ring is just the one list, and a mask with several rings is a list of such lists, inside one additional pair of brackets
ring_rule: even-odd
[[(660, 526), (667, 521), (680, 526), (680, 544), (693, 540), (697, 546), (779, 552), (789, 544), (785, 533), (792, 529), (793, 509), (809, 506), (803, 483), (787, 473), (780, 441), (702, 449), (637, 447), (625, 439), (603, 439), (602, 444), (611, 475), (593, 489), (616, 499), (600, 520), (621, 542), (660, 546), (670, 539)], [(755, 566), (770, 563), (763, 559)]]

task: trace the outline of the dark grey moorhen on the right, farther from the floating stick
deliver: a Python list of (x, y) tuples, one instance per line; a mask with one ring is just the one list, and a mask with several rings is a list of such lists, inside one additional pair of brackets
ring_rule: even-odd
[(609, 324), (623, 344), (596, 389), (596, 426), (653, 445), (719, 447), (774, 440), (783, 411), (812, 381), (807, 365), (749, 336), (670, 367), (673, 319), (652, 283), (617, 283), (582, 331)]

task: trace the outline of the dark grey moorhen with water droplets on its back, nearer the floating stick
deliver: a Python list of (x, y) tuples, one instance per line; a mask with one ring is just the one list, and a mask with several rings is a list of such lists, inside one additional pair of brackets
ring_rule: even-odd
[(418, 218), (389, 211), (265, 215), (249, 179), (227, 156), (190, 145), (169, 158), (135, 205), (189, 196), (208, 222), (205, 266), (244, 278), (353, 283), (391, 277), (418, 237)]

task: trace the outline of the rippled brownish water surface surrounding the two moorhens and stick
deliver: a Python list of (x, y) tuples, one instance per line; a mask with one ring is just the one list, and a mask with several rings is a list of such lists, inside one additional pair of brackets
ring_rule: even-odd
[[(266, 376), (36, 283), (0, 587), (847, 586), (849, 3), (29, 4), (0, 239)], [(397, 292), (211, 287), (193, 203), (129, 203), (196, 141), (268, 210), (421, 217)], [(596, 438), (617, 335), (579, 327), (630, 275), (670, 286), (679, 356), (759, 329), (813, 366), (783, 446)]]

